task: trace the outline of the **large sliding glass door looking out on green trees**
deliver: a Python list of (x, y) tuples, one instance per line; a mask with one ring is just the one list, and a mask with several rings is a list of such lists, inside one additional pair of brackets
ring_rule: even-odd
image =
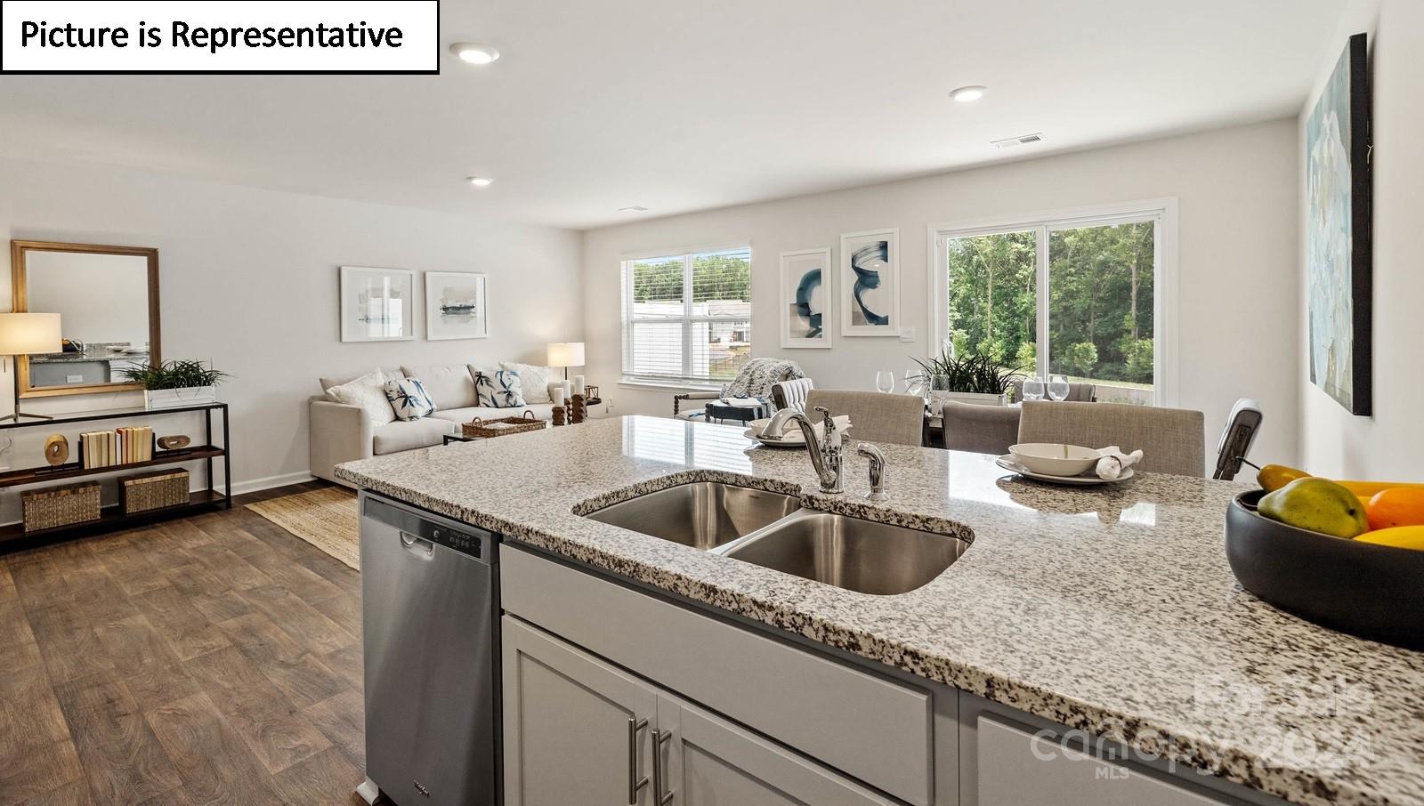
[(1168, 403), (1162, 359), (1175, 204), (943, 226), (934, 235), (938, 343), (1024, 373), (1098, 386), (1098, 400)]

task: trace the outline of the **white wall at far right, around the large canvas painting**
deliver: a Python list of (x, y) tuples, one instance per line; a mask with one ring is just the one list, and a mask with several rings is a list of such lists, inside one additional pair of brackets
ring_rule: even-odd
[[(1424, 266), (1420, 219), (1424, 216), (1424, 3), (1351, 0), (1337, 37), (1320, 54), (1320, 77), (1302, 108), (1304, 121), (1340, 58), (1346, 37), (1370, 34), (1374, 84), (1374, 416), (1356, 417), (1310, 383), (1306, 352), (1304, 265), (1300, 278), (1300, 366), (1303, 466), (1336, 478), (1424, 481)], [(1304, 154), (1302, 148), (1302, 155)], [(1299, 175), (1304, 177), (1304, 158)], [(1307, 215), (1304, 191), (1300, 215)], [(1302, 234), (1304, 229), (1302, 228)], [(1303, 235), (1302, 235), (1303, 236)], [(1302, 241), (1300, 253), (1304, 255)]]

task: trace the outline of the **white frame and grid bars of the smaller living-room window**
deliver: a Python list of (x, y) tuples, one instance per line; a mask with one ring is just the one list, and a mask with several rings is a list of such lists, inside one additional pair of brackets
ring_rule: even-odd
[[(746, 316), (698, 316), (692, 313), (692, 259), (698, 255), (715, 255), (719, 252), (746, 252), (746, 262), (752, 266), (752, 244), (722, 244), (716, 246), (696, 246), (688, 249), (666, 249), (666, 251), (652, 251), (652, 252), (628, 252), (619, 256), (618, 263), (618, 282), (621, 285), (622, 296), (622, 316), (619, 322), (619, 329), (622, 330), (622, 357), (621, 357), (621, 380), (624, 383), (635, 384), (662, 384), (669, 387), (705, 387), (705, 389), (721, 389), (726, 382), (709, 377), (693, 377), (688, 375), (692, 366), (692, 326), (701, 323), (729, 323), (740, 325), (746, 323), (746, 340), (752, 342), (752, 285), (755, 285), (755, 266), (752, 268), (753, 283), (748, 286), (748, 300)], [(682, 258), (682, 316), (634, 316), (634, 282), (632, 282), (632, 265), (648, 261), (671, 261), (675, 258)], [(659, 325), (682, 325), (682, 373), (681, 375), (656, 375), (656, 373), (637, 373), (632, 372), (631, 362), (634, 355), (634, 325), (639, 322), (659, 323)]]

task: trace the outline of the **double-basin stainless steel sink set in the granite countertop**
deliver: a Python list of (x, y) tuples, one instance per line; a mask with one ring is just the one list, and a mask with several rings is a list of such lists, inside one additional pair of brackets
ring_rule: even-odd
[(957, 537), (802, 508), (793, 496), (718, 481), (678, 484), (587, 514), (862, 594), (904, 594), (964, 554)]

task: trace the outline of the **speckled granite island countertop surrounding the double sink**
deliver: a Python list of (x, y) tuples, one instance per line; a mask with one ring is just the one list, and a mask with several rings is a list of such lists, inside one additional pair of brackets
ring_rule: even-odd
[[(1049, 487), (993, 457), (883, 446), (820, 496), (799, 450), (740, 427), (591, 420), (353, 461), (337, 476), (540, 548), (1299, 803), (1424, 803), (1424, 652), (1316, 627), (1236, 584), (1245, 484), (1139, 473)], [(692, 478), (756, 477), (803, 504), (971, 537), (909, 594), (857, 594), (574, 514)], [(1329, 591), (1321, 591), (1329, 595)]]

